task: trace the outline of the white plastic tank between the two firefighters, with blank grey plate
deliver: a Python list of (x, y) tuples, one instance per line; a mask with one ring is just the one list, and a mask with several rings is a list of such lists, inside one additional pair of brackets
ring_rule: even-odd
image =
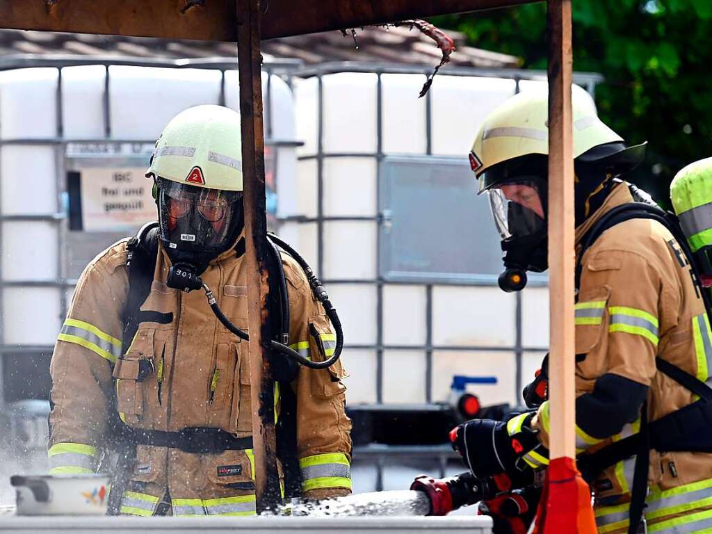
[[(342, 316), (347, 345), (377, 345), (377, 152), (425, 155), (430, 148), (432, 155), (466, 159), (486, 115), (516, 90), (511, 79), (437, 75), (431, 87), (428, 132), (426, 99), (418, 98), (425, 80), (421, 74), (382, 74), (380, 108), (379, 77), (374, 73), (295, 80), (297, 135), (304, 142), (294, 175), (299, 194), (292, 199), (281, 197), (281, 211), (310, 221), (287, 222), (281, 231), (297, 240), (316, 268), (315, 260), (323, 258), (318, 274), (325, 280), (360, 281), (328, 285)], [(280, 192), (285, 179), (289, 177), (283, 177)], [(318, 224), (312, 222), (320, 214), (319, 206), (326, 218), (320, 255)], [(348, 218), (358, 220), (342, 220)], [(432, 296), (434, 345), (513, 346), (512, 295), (498, 288), (435, 286)], [(382, 355), (383, 402), (426, 402), (425, 310), (424, 284), (384, 285), (382, 342), (397, 348), (386, 348)], [(344, 363), (351, 372), (347, 401), (376, 402), (375, 349), (347, 349)], [(454, 374), (496, 375), (500, 381), (488, 387), (486, 402), (515, 402), (513, 352), (434, 352), (432, 400), (446, 400)]]

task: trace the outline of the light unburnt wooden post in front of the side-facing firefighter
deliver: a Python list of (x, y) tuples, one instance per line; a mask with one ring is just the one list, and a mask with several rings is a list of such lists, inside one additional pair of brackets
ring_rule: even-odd
[(575, 457), (571, 0), (548, 0), (550, 457)]

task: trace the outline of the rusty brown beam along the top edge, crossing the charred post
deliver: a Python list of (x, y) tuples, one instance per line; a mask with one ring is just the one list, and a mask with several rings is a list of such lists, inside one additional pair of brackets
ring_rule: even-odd
[[(357, 28), (539, 0), (270, 0), (261, 38)], [(188, 5), (192, 7), (187, 7)], [(236, 41), (233, 0), (0, 1), (0, 28)]]

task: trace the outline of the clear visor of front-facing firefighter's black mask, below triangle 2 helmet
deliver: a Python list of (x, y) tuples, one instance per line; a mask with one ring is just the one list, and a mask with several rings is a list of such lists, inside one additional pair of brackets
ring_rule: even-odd
[(242, 192), (157, 182), (161, 237), (169, 248), (219, 252), (231, 245)]

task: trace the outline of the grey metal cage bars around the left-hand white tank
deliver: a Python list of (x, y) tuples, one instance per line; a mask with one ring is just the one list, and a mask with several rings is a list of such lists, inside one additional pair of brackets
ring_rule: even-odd
[[(103, 120), (104, 127), (103, 137), (93, 139), (80, 139), (65, 137), (63, 129), (63, 92), (62, 92), (62, 69), (75, 66), (104, 66), (105, 82), (103, 88)], [(67, 168), (66, 168), (66, 147), (70, 143), (101, 143), (101, 142), (126, 142), (136, 144), (154, 144), (155, 139), (141, 140), (131, 139), (122, 140), (112, 137), (111, 116), (110, 116), (110, 67), (111, 66), (137, 66), (137, 67), (161, 67), (161, 68), (199, 68), (208, 70), (219, 70), (221, 73), (219, 101), (220, 105), (225, 105), (226, 101), (226, 70), (236, 70), (237, 62), (235, 58), (198, 58), (198, 59), (153, 59), (153, 58), (114, 58), (106, 56), (40, 56), (33, 54), (19, 56), (4, 56), (0, 58), (0, 71), (16, 70), (21, 68), (43, 68), (50, 67), (58, 70), (57, 88), (56, 88), (56, 136), (48, 138), (13, 138), (9, 140), (0, 139), (0, 151), (8, 145), (33, 145), (33, 146), (51, 146), (54, 148), (55, 157), (55, 186), (56, 186), (56, 211), (53, 214), (43, 215), (22, 215), (22, 214), (4, 214), (0, 206), (0, 235), (4, 223), (8, 221), (41, 221), (58, 226), (57, 234), (57, 278), (53, 281), (36, 281), (36, 280), (16, 280), (7, 281), (2, 275), (2, 255), (0, 254), (0, 318), (5, 318), (7, 310), (4, 306), (4, 290), (5, 288), (56, 288), (60, 292), (60, 313), (63, 320), (66, 317), (68, 310), (67, 292), (68, 288), (76, 286), (78, 282), (74, 278), (68, 278), (68, 262), (66, 250), (62, 246), (67, 242), (68, 236), (68, 213), (65, 212), (63, 205), (63, 193), (67, 191)], [(298, 140), (274, 139), (273, 138), (273, 120), (271, 112), (272, 90), (271, 80), (273, 75), (285, 76), (290, 70), (295, 70), (302, 66), (300, 60), (292, 59), (276, 59), (266, 61), (263, 64), (263, 71), (267, 74), (266, 91), (265, 91), (265, 145), (275, 147), (297, 147), (300, 145)], [(277, 169), (275, 169), (276, 172)], [(0, 179), (2, 179), (0, 175)], [(53, 345), (24, 345), (24, 344), (6, 344), (6, 336), (4, 331), (4, 321), (0, 322), (0, 410), (4, 408), (6, 402), (6, 391), (4, 384), (4, 364), (6, 355), (9, 354), (26, 354), (26, 355), (43, 355), (51, 354)]]

